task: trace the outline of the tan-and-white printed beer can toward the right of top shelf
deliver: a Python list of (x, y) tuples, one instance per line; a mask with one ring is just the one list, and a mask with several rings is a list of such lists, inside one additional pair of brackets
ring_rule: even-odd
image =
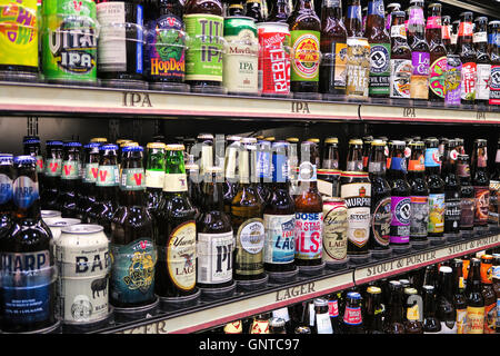
[(349, 37), (347, 46), (346, 95), (349, 99), (368, 100), (370, 44), (366, 38)]

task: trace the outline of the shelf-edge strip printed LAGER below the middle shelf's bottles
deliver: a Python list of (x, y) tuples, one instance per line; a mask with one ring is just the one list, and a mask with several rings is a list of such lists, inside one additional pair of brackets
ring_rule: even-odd
[(116, 332), (118, 334), (188, 334), (242, 319), (259, 313), (352, 287), (352, 270), (301, 285), (290, 286), (243, 300), (189, 313)]

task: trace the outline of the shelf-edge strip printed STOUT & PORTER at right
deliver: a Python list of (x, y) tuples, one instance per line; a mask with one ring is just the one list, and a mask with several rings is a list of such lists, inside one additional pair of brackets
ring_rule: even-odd
[(494, 235), (474, 240), (466, 240), (463, 243), (451, 246), (449, 245), (430, 251), (411, 254), (410, 256), (401, 257), (399, 259), (383, 261), (369, 267), (357, 268), (354, 270), (354, 283), (356, 285), (362, 285), (372, 280), (399, 275), (408, 270), (438, 264), (447, 259), (489, 249), (499, 245), (500, 235)]

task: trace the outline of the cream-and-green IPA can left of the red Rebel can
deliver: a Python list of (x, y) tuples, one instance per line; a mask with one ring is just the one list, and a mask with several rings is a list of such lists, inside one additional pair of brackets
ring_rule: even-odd
[(223, 56), (223, 86), (229, 93), (257, 95), (259, 41), (256, 20), (246, 17), (226, 18), (224, 39), (228, 48)]

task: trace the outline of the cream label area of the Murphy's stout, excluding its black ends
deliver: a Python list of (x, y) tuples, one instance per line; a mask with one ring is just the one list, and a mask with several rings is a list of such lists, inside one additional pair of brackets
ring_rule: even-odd
[(370, 237), (371, 184), (347, 184), (340, 190), (348, 208), (348, 241), (361, 249)]

